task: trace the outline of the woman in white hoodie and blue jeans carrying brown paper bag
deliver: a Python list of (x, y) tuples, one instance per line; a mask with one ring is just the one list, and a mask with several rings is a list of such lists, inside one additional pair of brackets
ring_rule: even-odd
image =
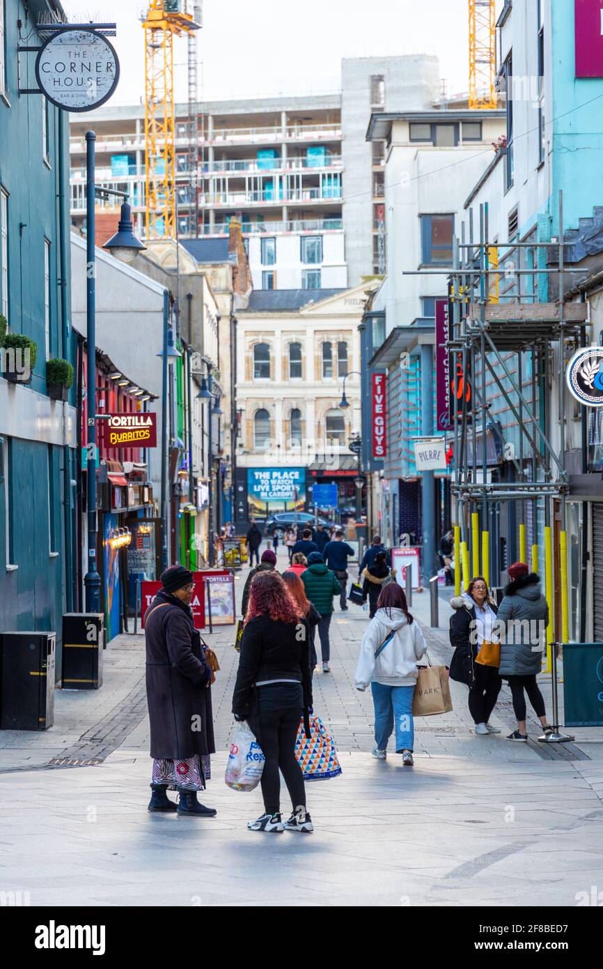
[(427, 652), (423, 633), (408, 612), (407, 597), (397, 582), (382, 590), (375, 617), (360, 643), (356, 666), (357, 690), (369, 683), (375, 704), (375, 747), (373, 757), (384, 761), (387, 741), (396, 728), (396, 753), (404, 766), (411, 767), (414, 741), (412, 697), (417, 678), (417, 660)]

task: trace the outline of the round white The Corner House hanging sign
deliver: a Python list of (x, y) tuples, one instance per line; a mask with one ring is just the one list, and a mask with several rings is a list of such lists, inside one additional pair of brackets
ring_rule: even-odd
[(36, 79), (57, 108), (90, 111), (115, 90), (119, 61), (103, 34), (75, 27), (53, 34), (40, 48)]

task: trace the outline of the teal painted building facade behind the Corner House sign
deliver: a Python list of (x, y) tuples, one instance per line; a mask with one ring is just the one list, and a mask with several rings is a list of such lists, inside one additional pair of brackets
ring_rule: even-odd
[[(75, 609), (75, 387), (47, 395), (47, 359), (75, 364), (69, 265), (69, 120), (41, 94), (35, 24), (53, 2), (0, 0), (0, 309), (37, 344), (31, 384), (0, 377), (0, 632), (55, 631)], [(21, 36), (17, 20), (22, 22)], [(25, 41), (24, 38), (27, 37)], [(18, 59), (17, 59), (18, 58)]]

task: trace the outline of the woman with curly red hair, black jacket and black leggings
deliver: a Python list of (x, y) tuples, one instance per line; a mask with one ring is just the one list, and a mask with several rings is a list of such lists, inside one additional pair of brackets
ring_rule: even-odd
[[(306, 810), (304, 775), (295, 759), (302, 714), (312, 707), (308, 620), (277, 572), (259, 572), (252, 581), (232, 697), (235, 720), (247, 720), (262, 749), (264, 813), (250, 821), (252, 831), (312, 831)], [(292, 813), (281, 817), (285, 777)]]

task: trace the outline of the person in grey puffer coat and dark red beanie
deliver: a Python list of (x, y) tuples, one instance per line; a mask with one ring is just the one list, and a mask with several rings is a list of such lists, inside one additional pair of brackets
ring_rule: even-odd
[(544, 699), (536, 682), (549, 625), (549, 605), (543, 595), (540, 578), (535, 572), (529, 572), (525, 562), (514, 562), (509, 566), (509, 578), (511, 581), (504, 590), (497, 615), (497, 626), (501, 632), (498, 672), (509, 684), (513, 711), (517, 718), (517, 730), (509, 734), (507, 740), (527, 743), (524, 691), (542, 724), (544, 734), (553, 733), (553, 728), (547, 722)]

